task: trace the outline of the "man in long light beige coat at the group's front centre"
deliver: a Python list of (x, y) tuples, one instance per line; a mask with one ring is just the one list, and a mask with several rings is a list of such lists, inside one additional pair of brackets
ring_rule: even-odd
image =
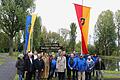
[(63, 55), (63, 52), (57, 57), (56, 69), (58, 72), (58, 80), (65, 80), (66, 57)]

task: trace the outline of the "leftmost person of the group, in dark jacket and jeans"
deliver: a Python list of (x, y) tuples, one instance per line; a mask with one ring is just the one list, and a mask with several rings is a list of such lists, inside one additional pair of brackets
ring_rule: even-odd
[(18, 60), (16, 62), (18, 80), (23, 80), (23, 73), (24, 73), (24, 60), (23, 60), (23, 56), (24, 56), (23, 54), (19, 54)]

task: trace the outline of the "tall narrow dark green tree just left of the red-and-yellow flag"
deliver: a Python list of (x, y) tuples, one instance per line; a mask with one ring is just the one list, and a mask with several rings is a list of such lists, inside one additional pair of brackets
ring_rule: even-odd
[(75, 50), (75, 44), (76, 44), (76, 24), (75, 23), (71, 23), (70, 25), (70, 43), (69, 43), (69, 48), (70, 48), (70, 51), (74, 51)]

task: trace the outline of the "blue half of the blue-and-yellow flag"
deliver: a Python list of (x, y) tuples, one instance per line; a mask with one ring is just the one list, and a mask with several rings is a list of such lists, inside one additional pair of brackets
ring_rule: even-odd
[(26, 50), (27, 50), (27, 47), (28, 47), (29, 29), (30, 29), (30, 26), (31, 26), (31, 18), (32, 18), (31, 15), (28, 15), (28, 16), (26, 17), (26, 28), (25, 28), (25, 53), (26, 53)]

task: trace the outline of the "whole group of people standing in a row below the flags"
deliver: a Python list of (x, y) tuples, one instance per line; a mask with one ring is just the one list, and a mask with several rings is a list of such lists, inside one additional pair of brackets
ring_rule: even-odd
[(58, 53), (51, 54), (20, 54), (16, 68), (19, 80), (51, 80), (53, 77), (58, 80), (92, 80), (92, 73), (93, 76), (96, 74), (96, 80), (101, 80), (101, 70), (105, 69), (105, 66), (96, 54), (66, 54), (65, 51), (59, 50)]

